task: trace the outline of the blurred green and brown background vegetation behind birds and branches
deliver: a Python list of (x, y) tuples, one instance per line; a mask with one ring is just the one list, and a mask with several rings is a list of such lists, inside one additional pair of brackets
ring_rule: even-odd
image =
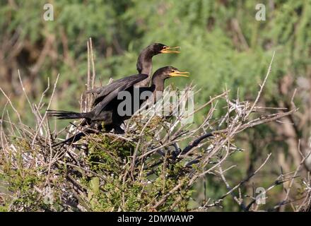
[[(43, 20), (44, 4), (54, 6), (54, 21)], [(266, 20), (257, 21), (257, 1), (229, 0), (118, 0), (118, 1), (0, 1), (0, 87), (23, 120), (34, 118), (18, 81), (18, 69), (27, 93), (38, 102), (60, 74), (52, 109), (78, 110), (86, 90), (87, 46), (93, 39), (96, 84), (109, 78), (136, 73), (141, 49), (153, 42), (182, 47), (181, 54), (153, 58), (153, 71), (171, 65), (190, 71), (191, 78), (170, 79), (180, 88), (193, 81), (201, 92), (199, 106), (225, 87), (231, 97), (254, 100), (274, 51), (271, 76), (259, 102), (266, 107), (291, 108), (291, 98), (300, 111), (282, 120), (247, 131), (238, 139), (245, 152), (232, 157), (240, 165), (232, 182), (254, 172), (266, 153), (272, 152), (268, 169), (258, 178), (262, 186), (273, 182), (283, 170), (290, 172), (300, 162), (300, 149), (309, 147), (311, 124), (311, 1), (266, 0)], [(45, 101), (49, 100), (51, 91)], [(0, 106), (6, 99), (0, 95)], [(206, 109), (207, 111), (208, 109)], [(1, 111), (2, 113), (2, 111)], [(204, 116), (198, 116), (200, 121)], [(12, 119), (14, 117), (12, 116)], [(68, 122), (64, 121), (65, 125)], [(269, 177), (266, 175), (269, 174)], [(275, 177), (274, 177), (275, 175)], [(206, 179), (207, 193), (218, 196), (224, 187)], [(202, 183), (204, 183), (202, 182)], [(257, 185), (258, 185), (257, 184)], [(251, 186), (251, 185), (250, 185)], [(275, 196), (283, 196), (282, 189)], [(198, 200), (202, 192), (198, 192)], [(198, 201), (199, 202), (199, 201)], [(230, 206), (230, 205), (228, 205)], [(230, 208), (229, 208), (230, 209)]]

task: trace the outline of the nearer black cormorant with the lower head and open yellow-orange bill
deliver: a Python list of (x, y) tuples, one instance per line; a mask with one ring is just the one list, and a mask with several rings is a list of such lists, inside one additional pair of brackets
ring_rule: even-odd
[[(102, 122), (105, 126), (106, 131), (110, 131), (111, 129), (115, 129), (117, 133), (123, 133), (124, 131), (121, 129), (120, 125), (124, 120), (129, 119), (146, 101), (146, 99), (141, 100), (141, 94), (146, 92), (147, 97), (151, 97), (153, 95), (154, 99), (152, 102), (156, 102), (156, 97), (159, 97), (157, 92), (163, 93), (164, 90), (164, 81), (167, 78), (183, 76), (188, 77), (188, 72), (182, 72), (172, 66), (165, 66), (163, 68), (158, 69), (153, 74), (151, 80), (151, 86), (149, 87), (141, 87), (136, 88), (134, 84), (139, 81), (143, 81), (148, 76), (137, 74), (134, 76), (127, 77), (127, 81), (123, 81), (119, 83), (119, 87), (109, 93), (101, 102), (98, 103), (90, 112), (66, 112), (66, 111), (53, 111), (49, 110), (49, 117), (56, 117), (57, 119), (85, 119), (85, 124), (88, 124), (91, 129), (86, 129), (83, 132), (76, 133), (76, 135), (71, 136), (71, 138), (66, 139), (66, 141), (62, 141), (61, 143), (74, 143), (78, 141), (81, 137), (83, 137), (86, 133), (94, 133), (94, 129), (102, 129)], [(120, 115), (119, 113), (119, 105), (124, 100), (118, 100), (118, 94), (121, 91), (129, 92), (129, 96), (131, 97), (131, 111), (129, 114)], [(136, 95), (136, 93), (138, 95)], [(135, 97), (139, 97), (139, 100), (135, 100)], [(134, 107), (134, 102), (139, 101), (139, 105)], [(127, 111), (127, 110), (126, 110)], [(128, 111), (127, 111), (128, 112)], [(84, 124), (84, 125), (85, 125)], [(57, 145), (61, 144), (57, 143)]]

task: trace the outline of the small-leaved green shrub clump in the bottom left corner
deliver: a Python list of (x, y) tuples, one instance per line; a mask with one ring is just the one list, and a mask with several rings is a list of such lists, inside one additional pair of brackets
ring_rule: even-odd
[[(0, 211), (8, 210), (10, 204), (11, 210), (22, 209), (24, 211), (42, 211), (59, 210), (59, 197), (54, 194), (54, 200), (42, 196), (40, 187), (45, 186), (46, 177), (45, 167), (34, 165), (25, 165), (24, 158), (35, 154), (35, 150), (30, 149), (30, 145), (25, 140), (16, 140), (14, 144), (18, 149), (6, 161), (0, 162), (3, 174), (0, 174), (0, 182), (7, 184), (4, 194), (6, 199), (4, 205), (0, 206)], [(11, 165), (11, 162), (17, 162), (17, 165)], [(35, 164), (35, 162), (34, 162)], [(53, 186), (52, 182), (50, 186)], [(13, 196), (9, 196), (9, 195)], [(13, 206), (13, 209), (12, 209)]]

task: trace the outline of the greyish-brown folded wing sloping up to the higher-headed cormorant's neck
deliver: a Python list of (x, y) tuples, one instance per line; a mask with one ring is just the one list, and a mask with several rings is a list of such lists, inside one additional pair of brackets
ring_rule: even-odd
[[(103, 100), (101, 100), (100, 102), (98, 102), (98, 105), (96, 105), (92, 111), (94, 111), (95, 115), (100, 114), (100, 112), (102, 111), (102, 109), (104, 109), (104, 107), (106, 107), (107, 104), (110, 103), (110, 101), (112, 101), (115, 97), (117, 97), (118, 93), (123, 91), (123, 90), (127, 90), (128, 88), (130, 88), (132, 85), (135, 85), (136, 83), (139, 83), (140, 81), (143, 81), (144, 79), (148, 78), (148, 75), (146, 74), (138, 74), (138, 75), (134, 75), (134, 76), (129, 76), (127, 78), (122, 78), (122, 81), (119, 81), (117, 83), (117, 87), (114, 86), (115, 89), (113, 89), (109, 94), (107, 94)], [(117, 81), (116, 81), (117, 82)], [(105, 90), (105, 93), (107, 93), (107, 91)], [(100, 93), (101, 95), (102, 93)]]

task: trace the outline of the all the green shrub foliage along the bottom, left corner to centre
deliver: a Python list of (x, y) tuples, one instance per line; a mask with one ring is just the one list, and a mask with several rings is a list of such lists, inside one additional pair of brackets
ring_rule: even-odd
[[(90, 136), (88, 142), (88, 156), (81, 159), (81, 164), (88, 171), (70, 167), (65, 160), (52, 165), (52, 173), (48, 173), (49, 165), (26, 166), (25, 154), (36, 152), (29, 149), (25, 140), (16, 141), (14, 146), (18, 150), (12, 153), (11, 159), (0, 164), (4, 171), (0, 174), (0, 182), (8, 184), (4, 191), (6, 199), (0, 203), (0, 210), (6, 211), (8, 206), (9, 210), (23, 211), (76, 210), (74, 206), (69, 208), (66, 203), (66, 193), (72, 192), (64, 179), (69, 175), (86, 191), (85, 194), (76, 194), (76, 199), (91, 211), (117, 211), (119, 208), (124, 211), (150, 211), (177, 184), (187, 182), (187, 177), (182, 174), (181, 163), (168, 167), (159, 165), (153, 176), (147, 176), (150, 169), (144, 169), (143, 165), (137, 165), (131, 171), (129, 156), (135, 148), (131, 142), (115, 140), (115, 137), (107, 135)], [(12, 161), (20, 164), (13, 166)], [(47, 174), (54, 176), (48, 178)], [(47, 187), (51, 189), (50, 192), (46, 191)], [(158, 210), (189, 210), (192, 193), (192, 189), (181, 187)], [(180, 201), (172, 208), (177, 198)]]

